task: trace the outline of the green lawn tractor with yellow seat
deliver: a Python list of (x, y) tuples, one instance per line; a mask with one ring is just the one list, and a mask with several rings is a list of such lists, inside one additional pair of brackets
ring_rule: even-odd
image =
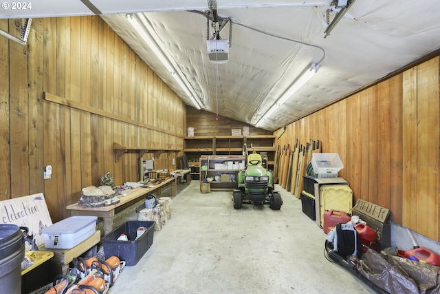
[(270, 204), (273, 210), (281, 209), (283, 199), (274, 191), (272, 173), (266, 171), (262, 162), (260, 154), (247, 156), (247, 166), (239, 171), (236, 179), (237, 187), (232, 196), (234, 209), (241, 209), (243, 203)]

